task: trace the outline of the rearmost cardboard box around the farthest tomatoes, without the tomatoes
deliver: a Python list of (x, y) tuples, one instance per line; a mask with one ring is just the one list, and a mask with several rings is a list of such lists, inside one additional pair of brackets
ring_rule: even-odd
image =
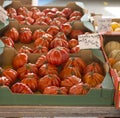
[[(26, 8), (28, 8), (28, 10), (30, 10), (32, 7), (34, 6), (31, 6), (29, 4), (22, 4), (21, 1), (17, 0), (17, 1), (13, 1), (11, 5), (9, 5), (7, 8), (9, 7), (13, 7), (15, 9), (18, 9), (19, 7), (22, 7), (22, 6), (25, 6)], [(77, 10), (77, 11), (80, 11), (82, 13), (82, 15), (84, 16), (85, 13), (87, 12), (86, 8), (84, 7), (84, 4), (82, 2), (68, 2), (65, 6), (35, 6), (37, 7), (38, 9), (40, 9), (41, 11), (46, 9), (46, 8), (54, 8), (56, 7), (58, 10), (63, 10), (64, 8), (71, 8), (73, 10)], [(12, 19), (13, 20), (13, 19)], [(80, 20), (78, 20), (77, 22), (81, 22)], [(73, 25), (76, 25), (77, 23), (72, 23)], [(33, 24), (34, 25), (34, 24)], [(91, 22), (89, 21), (82, 21), (80, 25), (76, 25), (77, 27), (81, 27), (81, 25), (83, 27), (85, 27), (87, 29), (87, 31), (91, 31), (91, 32), (94, 32), (94, 26)]]

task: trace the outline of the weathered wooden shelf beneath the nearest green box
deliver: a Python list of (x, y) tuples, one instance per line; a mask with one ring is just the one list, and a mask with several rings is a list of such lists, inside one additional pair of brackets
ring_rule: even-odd
[(0, 106), (0, 117), (120, 117), (115, 107)]

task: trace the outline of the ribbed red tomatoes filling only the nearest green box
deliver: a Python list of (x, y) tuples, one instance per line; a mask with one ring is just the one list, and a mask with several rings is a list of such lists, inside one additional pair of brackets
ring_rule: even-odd
[[(14, 93), (24, 94), (39, 91), (41, 94), (84, 95), (90, 88), (101, 87), (104, 69), (98, 62), (87, 64), (81, 57), (65, 58), (65, 55), (59, 58), (59, 53), (51, 55), (53, 60), (49, 62), (48, 54), (41, 55), (35, 63), (29, 63), (26, 53), (18, 53), (13, 58), (12, 68), (0, 68), (0, 85), (8, 86)], [(60, 60), (61, 64), (51, 63), (55, 60)]]

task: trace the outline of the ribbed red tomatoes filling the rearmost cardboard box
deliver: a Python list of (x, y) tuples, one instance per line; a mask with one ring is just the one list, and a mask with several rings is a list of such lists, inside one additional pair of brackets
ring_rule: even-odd
[(56, 25), (60, 26), (66, 22), (80, 20), (83, 13), (72, 8), (45, 8), (40, 10), (37, 7), (9, 7), (6, 9), (10, 19), (17, 20), (20, 24), (26, 25)]

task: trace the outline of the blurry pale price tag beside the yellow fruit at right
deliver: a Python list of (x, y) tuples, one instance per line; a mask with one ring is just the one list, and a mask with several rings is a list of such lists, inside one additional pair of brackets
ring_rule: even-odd
[(108, 32), (111, 31), (111, 22), (110, 18), (102, 18), (98, 20), (98, 32)]

